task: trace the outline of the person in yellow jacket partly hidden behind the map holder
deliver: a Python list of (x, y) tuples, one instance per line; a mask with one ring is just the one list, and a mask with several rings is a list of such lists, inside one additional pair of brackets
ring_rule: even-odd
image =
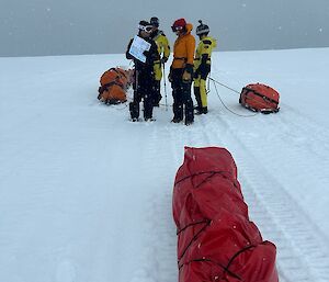
[(150, 34), (150, 38), (155, 41), (158, 46), (158, 52), (160, 55), (160, 59), (155, 61), (154, 71), (155, 71), (155, 86), (154, 86), (154, 106), (159, 106), (159, 102), (162, 98), (160, 92), (160, 82), (162, 78), (162, 67), (167, 63), (170, 56), (170, 45), (166, 34), (159, 30), (159, 19), (157, 16), (152, 16), (150, 19), (150, 24), (154, 26), (152, 32)]

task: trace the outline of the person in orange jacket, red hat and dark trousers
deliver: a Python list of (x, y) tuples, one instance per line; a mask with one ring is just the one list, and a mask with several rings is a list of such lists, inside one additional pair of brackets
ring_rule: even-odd
[(173, 123), (183, 121), (185, 111), (185, 125), (194, 122), (193, 100), (191, 98), (191, 86), (193, 79), (193, 59), (195, 50), (195, 38), (191, 34), (191, 23), (184, 19), (174, 21), (171, 26), (178, 38), (173, 45), (173, 61), (170, 67), (169, 81), (173, 98)]

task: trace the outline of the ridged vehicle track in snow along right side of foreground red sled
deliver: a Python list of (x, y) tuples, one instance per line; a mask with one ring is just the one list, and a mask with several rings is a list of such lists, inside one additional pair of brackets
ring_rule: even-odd
[[(235, 144), (227, 144), (228, 148), (239, 151), (236, 158), (239, 181), (243, 195), (252, 211), (251, 218), (260, 227), (264, 239), (272, 240), (277, 246), (277, 269), (280, 280), (284, 282), (325, 282), (329, 281), (329, 261), (324, 249), (325, 237), (308, 218), (298, 203), (290, 196), (287, 189), (275, 179), (273, 173), (261, 166), (261, 161), (252, 154), (252, 140), (236, 133), (234, 126), (216, 116), (218, 123), (207, 124), (201, 120), (205, 128), (205, 137), (209, 142), (216, 136), (229, 137)], [(277, 121), (275, 121), (277, 122)], [(286, 121), (279, 120), (277, 126), (284, 126)], [(265, 121), (263, 122), (265, 125)], [(217, 139), (216, 139), (217, 140)], [(286, 232), (288, 230), (288, 232)]]

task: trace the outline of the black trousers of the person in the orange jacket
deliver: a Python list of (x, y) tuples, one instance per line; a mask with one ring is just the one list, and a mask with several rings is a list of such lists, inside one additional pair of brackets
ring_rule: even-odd
[(184, 69), (171, 69), (171, 88), (173, 98), (173, 119), (182, 121), (185, 115), (185, 123), (194, 121), (193, 100), (191, 98), (191, 82), (183, 82)]

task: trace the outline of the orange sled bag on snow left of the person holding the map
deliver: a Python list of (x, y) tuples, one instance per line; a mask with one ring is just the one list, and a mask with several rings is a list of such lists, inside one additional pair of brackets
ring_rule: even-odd
[(126, 90), (131, 86), (132, 70), (111, 68), (101, 79), (98, 99), (106, 104), (118, 104), (127, 101)]

